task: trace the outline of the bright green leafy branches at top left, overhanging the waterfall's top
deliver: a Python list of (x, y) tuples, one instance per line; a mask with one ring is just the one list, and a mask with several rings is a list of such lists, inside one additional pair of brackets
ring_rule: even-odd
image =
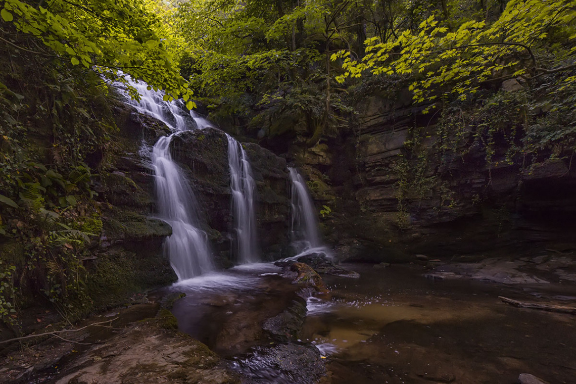
[[(158, 35), (158, 18), (141, 0), (54, 0), (47, 7), (4, 0), (1, 17), (46, 45), (49, 50), (42, 55), (81, 64), (109, 81), (126, 83), (126, 73), (166, 90), (169, 100), (188, 101), (192, 95), (162, 42), (165, 36)], [(134, 89), (131, 94), (138, 98)]]

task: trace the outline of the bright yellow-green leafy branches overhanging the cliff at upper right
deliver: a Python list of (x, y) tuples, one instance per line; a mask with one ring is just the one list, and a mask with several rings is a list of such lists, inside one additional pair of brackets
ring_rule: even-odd
[[(410, 89), (419, 102), (437, 100), (443, 92), (466, 100), (493, 78), (533, 79), (573, 68), (574, 64), (554, 67), (540, 48), (554, 44), (556, 62), (574, 54), (575, 20), (574, 0), (511, 0), (492, 23), (468, 20), (454, 30), (431, 15), (395, 39), (367, 39), (367, 54), (361, 60), (353, 59), (350, 51), (340, 51), (332, 60), (345, 58), (346, 73), (339, 82), (370, 70), (412, 77)], [(569, 43), (558, 44), (556, 39)], [(574, 78), (564, 81), (567, 86)]]

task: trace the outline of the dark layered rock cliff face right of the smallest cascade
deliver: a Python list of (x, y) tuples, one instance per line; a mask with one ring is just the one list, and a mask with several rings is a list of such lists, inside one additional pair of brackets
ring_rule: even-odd
[[(327, 239), (343, 258), (452, 257), (502, 246), (571, 248), (576, 167), (568, 159), (507, 158), (497, 141), (491, 161), (468, 132), (441, 151), (438, 115), (410, 95), (372, 96), (351, 130), (328, 145), (291, 153), (307, 175)], [(418, 147), (415, 132), (419, 134)]]

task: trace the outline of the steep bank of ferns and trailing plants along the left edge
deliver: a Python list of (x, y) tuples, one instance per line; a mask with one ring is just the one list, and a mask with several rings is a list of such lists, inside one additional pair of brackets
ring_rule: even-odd
[(40, 296), (73, 319), (92, 307), (82, 260), (101, 232), (86, 162), (116, 127), (98, 75), (30, 52), (44, 48), (6, 28), (20, 48), (0, 45), (0, 245), (21, 250), (0, 251), (13, 282), (4, 299), (15, 308)]

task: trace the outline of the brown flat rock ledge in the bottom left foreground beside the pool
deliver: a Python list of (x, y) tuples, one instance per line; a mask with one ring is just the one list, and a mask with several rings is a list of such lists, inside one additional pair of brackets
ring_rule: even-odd
[[(156, 303), (92, 318), (66, 333), (2, 359), (5, 384), (240, 383), (240, 375), (187, 334)], [(155, 315), (156, 313), (156, 315)], [(152, 317), (148, 317), (152, 316)], [(145, 318), (142, 320), (142, 318)], [(146, 318), (147, 317), (147, 318)], [(106, 319), (111, 320), (105, 323)]]

